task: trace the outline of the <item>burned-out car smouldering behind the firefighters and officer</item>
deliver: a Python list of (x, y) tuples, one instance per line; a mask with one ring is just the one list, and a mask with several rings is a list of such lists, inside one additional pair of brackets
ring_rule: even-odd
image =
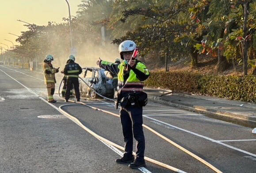
[(108, 71), (102, 68), (86, 67), (83, 68), (82, 79), (89, 87), (79, 79), (81, 94), (89, 96), (90, 98), (96, 98), (97, 94), (92, 90), (93, 88), (97, 93), (105, 97), (113, 98), (113, 79)]

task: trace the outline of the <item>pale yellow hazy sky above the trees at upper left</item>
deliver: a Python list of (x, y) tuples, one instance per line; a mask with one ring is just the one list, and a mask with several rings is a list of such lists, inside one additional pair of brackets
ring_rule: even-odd
[[(76, 15), (77, 5), (81, 0), (68, 0), (71, 15)], [(63, 17), (69, 16), (68, 4), (65, 0), (0, 0), (0, 43), (9, 47), (19, 45), (15, 42), (18, 38), (14, 35), (21, 35), (21, 31), (26, 31), (27, 27), (23, 26), (23, 20), (27, 23), (37, 25), (47, 25), (49, 21), (60, 23)], [(4, 39), (10, 40), (6, 41)], [(7, 46), (0, 44), (7, 48)]]

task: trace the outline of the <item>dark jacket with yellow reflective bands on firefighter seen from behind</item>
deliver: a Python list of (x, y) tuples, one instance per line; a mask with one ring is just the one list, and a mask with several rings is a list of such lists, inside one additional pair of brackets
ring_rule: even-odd
[(79, 64), (76, 64), (73, 60), (69, 60), (69, 63), (65, 65), (64, 74), (68, 78), (78, 78), (79, 74), (82, 73), (82, 68)]

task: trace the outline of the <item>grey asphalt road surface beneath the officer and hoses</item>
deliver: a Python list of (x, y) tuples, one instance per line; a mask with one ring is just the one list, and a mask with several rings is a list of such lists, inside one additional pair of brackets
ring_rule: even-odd
[[(57, 94), (54, 98), (58, 99)], [(59, 100), (54, 107), (43, 99), (47, 99), (47, 92), (42, 74), (0, 65), (1, 173), (173, 172), (151, 162), (146, 162), (147, 166), (141, 170), (116, 164), (120, 151), (62, 115), (58, 107), (65, 102)], [(82, 101), (118, 114), (112, 102)], [(123, 146), (118, 117), (79, 104), (63, 109), (83, 126)], [(145, 125), (222, 172), (255, 173), (256, 135), (252, 134), (252, 128), (151, 102), (143, 113)], [(148, 129), (144, 128), (144, 133), (145, 156), (187, 173), (214, 172)]]

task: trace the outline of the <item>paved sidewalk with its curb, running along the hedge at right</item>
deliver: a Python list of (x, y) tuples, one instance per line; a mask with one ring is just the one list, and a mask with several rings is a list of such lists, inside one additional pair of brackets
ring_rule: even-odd
[(229, 117), (256, 124), (256, 104), (203, 95), (145, 88), (150, 101), (213, 116)]

